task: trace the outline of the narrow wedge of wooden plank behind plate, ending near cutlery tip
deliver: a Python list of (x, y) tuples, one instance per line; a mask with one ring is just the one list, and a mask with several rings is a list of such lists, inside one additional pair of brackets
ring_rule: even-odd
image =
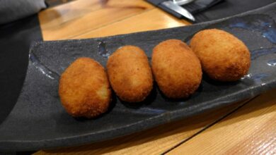
[(119, 22), (100, 27), (96, 30), (91, 30), (90, 32), (73, 37), (72, 39), (122, 35), (132, 32), (160, 30), (163, 28), (180, 27), (185, 25), (190, 25), (190, 23), (186, 20), (179, 20), (168, 13), (164, 13), (159, 8), (154, 8), (125, 20), (120, 20)]

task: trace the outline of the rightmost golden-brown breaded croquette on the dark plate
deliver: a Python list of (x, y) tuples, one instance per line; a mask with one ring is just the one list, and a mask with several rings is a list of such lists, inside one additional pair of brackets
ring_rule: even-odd
[(190, 42), (202, 68), (214, 80), (236, 81), (248, 73), (250, 52), (240, 39), (217, 29), (197, 32)]

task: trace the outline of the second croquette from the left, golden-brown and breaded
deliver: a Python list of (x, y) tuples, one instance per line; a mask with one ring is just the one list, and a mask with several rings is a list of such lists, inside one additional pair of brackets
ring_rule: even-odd
[(149, 61), (137, 46), (122, 46), (108, 59), (110, 84), (122, 101), (143, 101), (151, 92), (153, 77)]

